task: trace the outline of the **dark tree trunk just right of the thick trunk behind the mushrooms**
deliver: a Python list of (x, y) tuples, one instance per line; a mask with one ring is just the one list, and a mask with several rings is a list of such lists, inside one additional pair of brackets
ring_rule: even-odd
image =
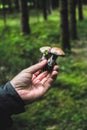
[(76, 0), (69, 0), (69, 14), (70, 14), (70, 34), (71, 38), (77, 39), (76, 27)]

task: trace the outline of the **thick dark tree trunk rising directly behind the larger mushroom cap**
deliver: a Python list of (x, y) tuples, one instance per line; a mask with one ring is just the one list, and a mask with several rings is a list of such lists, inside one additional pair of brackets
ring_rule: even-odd
[(68, 7), (67, 0), (60, 0), (60, 28), (61, 28), (61, 42), (63, 50), (70, 51), (70, 40), (69, 40), (69, 23), (68, 23)]

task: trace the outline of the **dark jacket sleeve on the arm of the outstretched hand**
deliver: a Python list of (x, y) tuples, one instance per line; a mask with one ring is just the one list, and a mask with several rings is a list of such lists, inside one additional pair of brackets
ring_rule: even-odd
[(11, 115), (24, 112), (24, 102), (10, 82), (0, 87), (0, 130), (12, 125)]

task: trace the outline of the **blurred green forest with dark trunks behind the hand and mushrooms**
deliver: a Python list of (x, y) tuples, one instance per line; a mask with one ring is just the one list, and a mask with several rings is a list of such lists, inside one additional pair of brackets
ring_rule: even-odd
[(0, 0), (0, 84), (37, 63), (42, 46), (61, 47), (52, 89), (11, 130), (87, 130), (87, 1)]

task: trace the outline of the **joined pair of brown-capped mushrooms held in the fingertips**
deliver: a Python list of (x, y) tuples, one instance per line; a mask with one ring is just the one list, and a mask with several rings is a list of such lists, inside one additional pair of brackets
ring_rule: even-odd
[(61, 48), (58, 47), (41, 47), (40, 51), (42, 52), (42, 59), (47, 59), (48, 63), (47, 65), (43, 68), (43, 70), (48, 70), (48, 71), (52, 71), (53, 66), (56, 64), (56, 59), (58, 58), (58, 56), (64, 56), (65, 53), (63, 52), (63, 50)]

